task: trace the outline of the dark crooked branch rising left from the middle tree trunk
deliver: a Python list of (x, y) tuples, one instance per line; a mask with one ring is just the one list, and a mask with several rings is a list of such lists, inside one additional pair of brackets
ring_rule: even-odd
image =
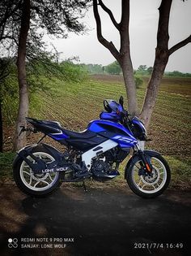
[(97, 38), (100, 43), (105, 46), (108, 50), (110, 50), (111, 54), (119, 61), (119, 52), (116, 49), (116, 47), (113, 45), (112, 41), (106, 40), (101, 32), (101, 20), (100, 20), (100, 14), (98, 12), (98, 2), (97, 0), (93, 0), (93, 11), (94, 16), (96, 20), (96, 29), (97, 29)]

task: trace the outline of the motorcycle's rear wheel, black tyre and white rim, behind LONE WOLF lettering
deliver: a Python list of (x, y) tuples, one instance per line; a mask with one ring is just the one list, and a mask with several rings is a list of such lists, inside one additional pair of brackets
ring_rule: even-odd
[[(55, 160), (53, 155), (49, 154), (48, 150), (45, 150), (45, 148), (40, 145), (32, 150), (32, 154), (42, 158), (47, 163)], [(28, 158), (30, 158), (30, 156), (28, 156)], [(17, 161), (13, 170), (13, 176), (19, 189), (23, 193), (33, 197), (45, 197), (62, 184), (60, 181), (61, 172), (34, 174), (23, 158), (19, 158)]]

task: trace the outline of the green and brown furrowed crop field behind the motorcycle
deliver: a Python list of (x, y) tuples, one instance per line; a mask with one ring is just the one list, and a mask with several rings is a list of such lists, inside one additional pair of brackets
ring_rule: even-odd
[[(146, 80), (138, 89), (138, 106), (141, 108)], [(125, 97), (125, 86), (120, 76), (90, 76), (81, 83), (53, 80), (53, 93), (38, 93), (31, 104), (30, 116), (59, 121), (63, 127), (81, 131), (91, 119), (99, 119), (104, 98), (117, 100)], [(126, 100), (126, 98), (125, 98)], [(161, 152), (172, 169), (172, 186), (183, 189), (191, 184), (191, 79), (164, 78), (151, 119), (147, 148)], [(36, 136), (28, 141), (37, 141)], [(57, 143), (57, 142), (55, 142)], [(54, 144), (55, 145), (55, 144)], [(61, 146), (56, 144), (61, 149)], [(121, 171), (124, 166), (121, 167)], [(121, 175), (119, 180), (123, 179)]]

